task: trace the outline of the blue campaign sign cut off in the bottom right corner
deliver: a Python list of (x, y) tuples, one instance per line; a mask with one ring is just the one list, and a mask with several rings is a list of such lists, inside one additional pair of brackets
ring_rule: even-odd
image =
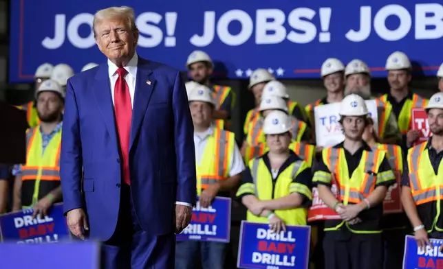
[(415, 237), (411, 235), (407, 235), (405, 240), (403, 269), (443, 268), (443, 252), (439, 250), (443, 239), (430, 238), (432, 247), (426, 246), (426, 249), (418, 248)]

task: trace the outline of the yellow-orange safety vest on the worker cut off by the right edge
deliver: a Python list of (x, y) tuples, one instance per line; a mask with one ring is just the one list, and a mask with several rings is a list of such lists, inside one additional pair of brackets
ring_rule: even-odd
[[(418, 215), (420, 215), (420, 219), (428, 233), (433, 230), (443, 232), (443, 227), (437, 226), (441, 213), (441, 201), (443, 199), (443, 162), (440, 162), (438, 166), (438, 176), (435, 175), (431, 160), (429, 159), (427, 145), (428, 142), (426, 141), (415, 145), (415, 147), (410, 148), (408, 151), (409, 185), (412, 198), (417, 206)], [(423, 204), (429, 202), (435, 202), (436, 205), (436, 214), (433, 220), (429, 220), (429, 212), (426, 212), (427, 216), (424, 216), (420, 210)]]

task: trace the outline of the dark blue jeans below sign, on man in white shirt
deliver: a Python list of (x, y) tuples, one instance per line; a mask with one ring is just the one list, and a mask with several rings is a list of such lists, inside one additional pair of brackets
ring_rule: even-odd
[(224, 269), (226, 244), (181, 241), (175, 244), (175, 269)]

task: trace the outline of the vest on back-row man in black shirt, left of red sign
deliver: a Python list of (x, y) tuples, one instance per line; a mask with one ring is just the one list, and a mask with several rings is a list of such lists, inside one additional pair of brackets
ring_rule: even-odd
[[(385, 102), (385, 104), (391, 105), (387, 100), (387, 94), (380, 96), (380, 101)], [(398, 128), (402, 134), (407, 134), (409, 130), (411, 130), (411, 117), (412, 117), (412, 108), (425, 108), (428, 104), (429, 100), (420, 97), (413, 93), (412, 100), (407, 99), (400, 110), (400, 114), (398, 115)]]

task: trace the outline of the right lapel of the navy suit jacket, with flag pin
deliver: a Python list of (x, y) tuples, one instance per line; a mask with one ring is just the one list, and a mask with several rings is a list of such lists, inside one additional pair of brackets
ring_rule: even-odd
[(131, 137), (129, 139), (129, 150), (131, 150), (134, 140), (136, 139), (138, 130), (142, 125), (144, 113), (151, 100), (155, 86), (154, 75), (149, 68), (149, 62), (142, 58), (138, 58), (136, 93), (133, 99), (132, 121), (131, 121)]

